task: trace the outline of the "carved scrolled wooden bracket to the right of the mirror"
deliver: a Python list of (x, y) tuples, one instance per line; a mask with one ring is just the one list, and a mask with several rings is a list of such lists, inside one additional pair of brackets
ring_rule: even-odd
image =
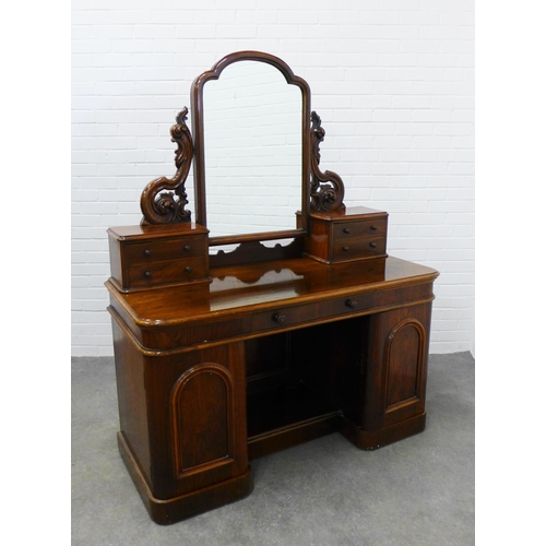
[(344, 209), (345, 186), (340, 175), (331, 170), (322, 173), (319, 168), (320, 143), (327, 132), (321, 127), (321, 119), (316, 111), (311, 112), (311, 210), (314, 212)]

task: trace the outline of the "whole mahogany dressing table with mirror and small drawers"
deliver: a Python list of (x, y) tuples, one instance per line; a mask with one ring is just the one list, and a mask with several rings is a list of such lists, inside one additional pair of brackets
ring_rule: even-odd
[(281, 59), (223, 58), (191, 118), (141, 224), (108, 229), (118, 446), (159, 524), (246, 497), (268, 453), (420, 432), (438, 276), (387, 254), (385, 212), (344, 205), (309, 86)]

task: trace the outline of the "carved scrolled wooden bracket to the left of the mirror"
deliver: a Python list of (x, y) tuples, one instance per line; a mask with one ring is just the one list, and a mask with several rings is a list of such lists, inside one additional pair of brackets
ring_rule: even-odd
[(177, 171), (173, 178), (161, 177), (152, 180), (142, 192), (140, 207), (144, 217), (141, 224), (175, 224), (191, 221), (185, 182), (193, 157), (191, 133), (186, 124), (188, 108), (183, 107), (170, 128), (171, 142), (178, 144), (175, 150)]

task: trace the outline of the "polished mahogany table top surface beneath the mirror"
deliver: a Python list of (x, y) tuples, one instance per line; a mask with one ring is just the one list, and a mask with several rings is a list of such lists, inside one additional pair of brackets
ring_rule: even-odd
[(429, 283), (439, 275), (431, 268), (393, 257), (331, 265), (297, 258), (216, 268), (210, 273), (210, 284), (129, 294), (121, 294), (109, 281), (106, 286), (138, 324), (158, 325)]

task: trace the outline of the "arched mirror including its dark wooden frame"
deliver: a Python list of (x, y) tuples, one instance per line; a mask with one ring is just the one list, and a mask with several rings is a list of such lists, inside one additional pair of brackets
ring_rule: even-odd
[(274, 56), (239, 51), (195, 79), (191, 100), (195, 222), (211, 246), (306, 235), (307, 83)]

